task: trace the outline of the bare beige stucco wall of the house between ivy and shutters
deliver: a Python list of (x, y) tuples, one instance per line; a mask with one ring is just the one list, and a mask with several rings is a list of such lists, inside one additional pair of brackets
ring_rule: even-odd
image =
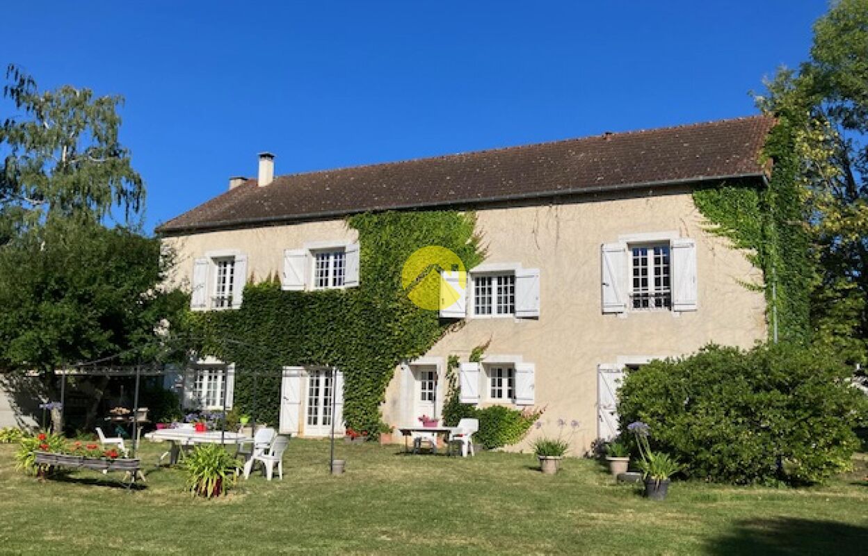
[[(623, 363), (644, 356), (678, 356), (708, 342), (749, 347), (766, 335), (765, 301), (744, 283), (761, 274), (727, 239), (703, 230), (702, 217), (689, 191), (628, 198), (598, 198), (561, 205), (502, 206), (480, 209), (478, 231), (487, 247), (486, 263), (517, 263), (540, 269), (539, 319), (470, 318), (444, 337), (428, 356), (450, 354), (466, 361), (475, 346), (490, 341), (489, 356), (516, 355), (536, 364), (536, 403), (545, 407), (543, 426), (513, 449), (526, 448), (538, 435), (558, 435), (558, 420), (568, 427), (576, 454), (596, 437), (597, 365)], [(619, 236), (678, 232), (697, 245), (698, 311), (629, 312), (626, 317), (601, 311), (603, 243)], [(344, 221), (309, 222), (252, 230), (209, 232), (167, 239), (179, 255), (174, 282), (189, 283), (192, 260), (207, 251), (247, 253), (257, 279), (282, 269), (282, 252), (306, 242), (355, 240)], [(364, 249), (364, 246), (363, 246)], [(400, 374), (387, 389), (386, 422), (404, 424), (398, 399)]]

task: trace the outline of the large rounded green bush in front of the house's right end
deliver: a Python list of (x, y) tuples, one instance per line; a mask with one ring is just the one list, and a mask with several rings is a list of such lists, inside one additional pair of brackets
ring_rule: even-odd
[(709, 345), (629, 372), (621, 428), (642, 421), (684, 473), (739, 484), (822, 481), (850, 466), (865, 396), (832, 354), (796, 345)]

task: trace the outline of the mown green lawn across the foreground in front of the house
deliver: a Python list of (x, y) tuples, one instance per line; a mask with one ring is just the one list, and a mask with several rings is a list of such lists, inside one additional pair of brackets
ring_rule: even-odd
[(92, 472), (37, 481), (0, 446), (0, 553), (868, 552), (865, 461), (824, 487), (676, 483), (661, 503), (612, 484), (594, 461), (549, 476), (530, 455), (341, 443), (347, 472), (332, 477), (327, 442), (293, 440), (283, 481), (256, 475), (208, 501), (181, 492), (181, 471), (153, 467), (161, 446), (142, 449), (147, 487), (133, 493)]

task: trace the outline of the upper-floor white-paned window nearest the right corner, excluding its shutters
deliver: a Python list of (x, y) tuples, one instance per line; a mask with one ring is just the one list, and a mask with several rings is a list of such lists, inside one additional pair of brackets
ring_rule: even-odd
[(630, 254), (630, 299), (633, 309), (671, 309), (672, 267), (669, 245), (632, 245)]

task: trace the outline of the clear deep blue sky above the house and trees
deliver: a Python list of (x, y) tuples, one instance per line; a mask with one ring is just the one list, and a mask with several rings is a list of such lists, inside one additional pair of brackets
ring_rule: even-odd
[[(0, 63), (126, 97), (145, 229), (254, 175), (756, 113), (821, 0), (18, 2)], [(0, 114), (4, 115), (4, 114)]]

